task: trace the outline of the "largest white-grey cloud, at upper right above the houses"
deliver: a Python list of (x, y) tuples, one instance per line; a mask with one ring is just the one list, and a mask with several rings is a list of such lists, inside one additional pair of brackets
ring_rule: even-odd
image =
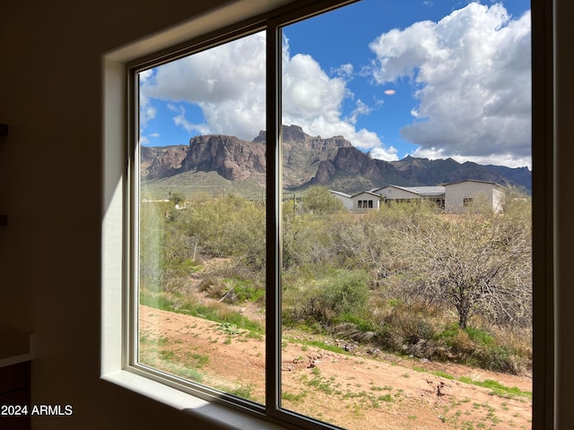
[(416, 87), (420, 103), (401, 133), (417, 154), (530, 164), (529, 12), (512, 19), (501, 4), (471, 3), (437, 23), (388, 31), (370, 48), (376, 82)]

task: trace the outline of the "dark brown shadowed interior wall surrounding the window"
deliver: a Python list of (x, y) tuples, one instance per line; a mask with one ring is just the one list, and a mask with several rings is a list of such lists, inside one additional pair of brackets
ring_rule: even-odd
[[(568, 399), (574, 386), (574, 224), (571, 200), (561, 197), (569, 196), (574, 184), (569, 166), (574, 17), (572, 4), (559, 2), (554, 332), (560, 345), (557, 417), (566, 429), (574, 422)], [(74, 406), (72, 417), (36, 417), (34, 429), (189, 428), (182, 412), (99, 379), (101, 59), (224, 3), (230, 2), (59, 0), (0, 6), (0, 122), (11, 127), (0, 143), (0, 213), (9, 215), (9, 226), (0, 227), (0, 323), (36, 335), (32, 403)]]

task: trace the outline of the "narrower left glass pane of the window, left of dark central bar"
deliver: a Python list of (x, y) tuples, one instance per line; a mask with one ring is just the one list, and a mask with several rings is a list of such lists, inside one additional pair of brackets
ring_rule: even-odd
[(139, 363), (262, 403), (265, 33), (139, 81)]

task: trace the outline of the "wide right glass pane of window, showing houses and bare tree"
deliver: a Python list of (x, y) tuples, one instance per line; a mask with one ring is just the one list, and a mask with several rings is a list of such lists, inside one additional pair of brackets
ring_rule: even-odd
[(283, 409), (531, 426), (530, 4), (484, 3), (283, 28)]

